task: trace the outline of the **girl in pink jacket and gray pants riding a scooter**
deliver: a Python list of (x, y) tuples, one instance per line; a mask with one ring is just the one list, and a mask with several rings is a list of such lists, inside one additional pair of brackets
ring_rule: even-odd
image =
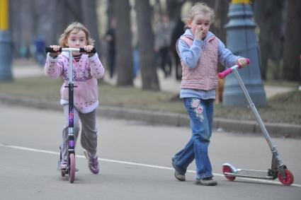
[[(93, 49), (94, 40), (89, 36), (89, 31), (81, 23), (70, 24), (59, 38), (59, 46), (52, 45), (58, 51), (60, 47), (84, 48), (86, 52)], [(98, 58), (98, 54), (72, 54), (74, 65), (74, 141), (79, 135), (79, 121), (81, 121), (81, 146), (85, 149), (84, 155), (88, 159), (91, 172), (98, 174), (96, 108), (98, 107), (97, 79), (102, 78), (105, 69)], [(48, 53), (45, 74), (50, 78), (62, 77), (64, 83), (61, 87), (61, 105), (64, 110), (65, 127), (62, 131), (62, 160), (60, 170), (67, 167), (68, 127), (69, 127), (69, 57), (68, 52)]]

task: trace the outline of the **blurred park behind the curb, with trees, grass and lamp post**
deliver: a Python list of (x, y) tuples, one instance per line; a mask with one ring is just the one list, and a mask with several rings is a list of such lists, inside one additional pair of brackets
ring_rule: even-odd
[[(45, 47), (57, 45), (67, 25), (78, 21), (96, 40), (106, 67), (106, 76), (98, 81), (102, 107), (186, 114), (179, 99), (181, 65), (175, 44), (196, 2), (0, 0), (0, 101), (57, 105), (62, 79), (45, 77)], [(293, 128), (300, 133), (301, 1), (204, 2), (215, 10), (212, 33), (234, 54), (251, 59), (239, 74), (263, 121), (297, 124)], [(216, 89), (215, 120), (254, 120), (234, 75), (222, 80)], [(290, 134), (286, 127), (282, 130)]]

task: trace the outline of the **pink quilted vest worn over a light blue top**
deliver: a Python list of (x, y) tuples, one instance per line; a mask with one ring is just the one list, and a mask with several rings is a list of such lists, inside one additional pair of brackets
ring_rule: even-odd
[[(193, 44), (193, 37), (189, 35), (180, 38), (187, 45)], [(177, 46), (177, 45), (176, 45)], [(182, 64), (182, 82), (181, 88), (212, 90), (217, 86), (217, 61), (218, 61), (218, 39), (213, 36), (207, 41), (203, 49), (198, 66), (190, 68), (181, 61)]]

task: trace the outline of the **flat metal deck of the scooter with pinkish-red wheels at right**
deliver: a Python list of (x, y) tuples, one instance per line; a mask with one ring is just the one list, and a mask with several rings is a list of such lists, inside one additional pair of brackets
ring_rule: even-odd
[(273, 180), (273, 177), (268, 175), (267, 171), (261, 171), (261, 170), (237, 169), (237, 172), (225, 172), (225, 175), (234, 176), (234, 177), (245, 177), (245, 178), (263, 179), (263, 180)]

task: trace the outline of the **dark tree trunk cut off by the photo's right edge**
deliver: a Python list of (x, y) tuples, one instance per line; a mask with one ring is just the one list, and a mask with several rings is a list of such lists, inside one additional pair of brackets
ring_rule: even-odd
[(288, 8), (285, 23), (283, 78), (288, 81), (301, 81), (301, 1), (290, 0), (287, 2)]

